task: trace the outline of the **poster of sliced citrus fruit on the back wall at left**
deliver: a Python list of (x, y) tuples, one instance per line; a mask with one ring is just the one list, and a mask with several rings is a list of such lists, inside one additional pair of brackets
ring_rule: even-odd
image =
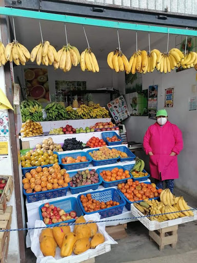
[(25, 68), (25, 86), (27, 99), (49, 102), (49, 82), (47, 68)]

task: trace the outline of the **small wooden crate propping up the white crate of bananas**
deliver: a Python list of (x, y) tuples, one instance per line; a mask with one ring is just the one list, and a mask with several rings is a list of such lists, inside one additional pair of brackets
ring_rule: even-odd
[(159, 245), (160, 251), (163, 251), (166, 245), (171, 245), (172, 248), (175, 248), (178, 241), (177, 231), (178, 225), (149, 231), (150, 241), (154, 240)]

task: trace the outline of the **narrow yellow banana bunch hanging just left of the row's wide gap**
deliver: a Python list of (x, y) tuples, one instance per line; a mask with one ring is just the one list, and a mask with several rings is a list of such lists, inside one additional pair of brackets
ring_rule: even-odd
[(80, 66), (82, 71), (88, 70), (94, 73), (99, 72), (99, 64), (91, 49), (88, 50), (87, 48), (81, 53)]

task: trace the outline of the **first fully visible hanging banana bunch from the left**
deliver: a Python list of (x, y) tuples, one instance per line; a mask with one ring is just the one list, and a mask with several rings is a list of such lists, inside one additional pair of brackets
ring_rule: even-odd
[[(2, 54), (2, 46), (0, 46), (0, 52)], [(8, 43), (8, 45), (5, 47), (5, 60), (6, 61), (14, 62), (16, 65), (19, 65), (20, 63), (22, 65), (25, 65), (26, 62), (29, 61), (29, 59), (30, 59), (29, 51), (27, 50), (25, 46), (18, 43), (17, 41)]]

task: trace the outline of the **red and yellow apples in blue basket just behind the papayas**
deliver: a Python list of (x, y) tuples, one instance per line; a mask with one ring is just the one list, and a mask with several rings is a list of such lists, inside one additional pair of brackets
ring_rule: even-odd
[(71, 211), (70, 213), (66, 213), (63, 209), (57, 208), (53, 204), (45, 203), (44, 206), (41, 208), (43, 221), (45, 224), (54, 224), (60, 223), (63, 221), (76, 219), (75, 211)]

